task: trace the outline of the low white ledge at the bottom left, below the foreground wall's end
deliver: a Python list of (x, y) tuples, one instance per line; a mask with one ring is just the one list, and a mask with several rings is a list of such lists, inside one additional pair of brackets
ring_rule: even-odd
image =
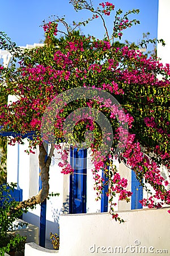
[[(50, 256), (56, 256), (59, 251), (57, 250), (49, 250), (45, 249), (36, 243), (26, 243), (25, 244), (25, 256), (44, 256), (44, 255), (50, 255)], [(58, 254), (59, 255), (59, 254)]]

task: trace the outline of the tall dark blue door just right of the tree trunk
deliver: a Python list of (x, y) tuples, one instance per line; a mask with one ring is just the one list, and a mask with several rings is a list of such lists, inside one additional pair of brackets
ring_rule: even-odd
[(86, 213), (87, 149), (71, 148), (70, 164), (74, 172), (70, 175), (69, 213)]

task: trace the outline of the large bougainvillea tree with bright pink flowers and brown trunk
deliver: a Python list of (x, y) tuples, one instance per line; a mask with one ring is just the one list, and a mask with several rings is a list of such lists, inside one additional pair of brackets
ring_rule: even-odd
[[(160, 172), (160, 166), (169, 170), (169, 64), (163, 66), (159, 59), (152, 59), (143, 55), (140, 48), (148, 42), (163, 43), (163, 40), (143, 41), (139, 46), (128, 44), (117, 47), (114, 42), (121, 39), (126, 28), (138, 24), (136, 19), (130, 19), (139, 10), (128, 11), (123, 14), (122, 10), (115, 11), (113, 3), (100, 3), (95, 9), (91, 1), (71, 1), (76, 11), (87, 9), (91, 12), (91, 18), (79, 23), (73, 23), (70, 27), (65, 19), (53, 16), (53, 19), (42, 24), (46, 35), (44, 47), (27, 51), (16, 47), (4, 33), (1, 33), (1, 48), (13, 53), (10, 68), (0, 67), (1, 71), (1, 94), (6, 97), (13, 94), (18, 97), (16, 102), (10, 105), (1, 105), (0, 125), (4, 131), (15, 131), (22, 135), (29, 131), (35, 131), (33, 139), (28, 138), (28, 152), (39, 145), (40, 168), (42, 189), (32, 199), (21, 202), (18, 208), (41, 203), (49, 192), (49, 166), (54, 148), (61, 150), (59, 138), (65, 138), (65, 122), (73, 113), (74, 121), (73, 137), (69, 137), (67, 143), (73, 147), (83, 144), (87, 131), (94, 135), (90, 140), (92, 161), (94, 167), (94, 188), (97, 199), (105, 185), (109, 184), (107, 196), (111, 205), (110, 212), (116, 220), (120, 220), (114, 213), (116, 205), (114, 198), (118, 194), (119, 200), (129, 201), (131, 192), (127, 191), (128, 181), (121, 177), (113, 159), (124, 162), (130, 169), (133, 168), (137, 179), (147, 189), (148, 197), (141, 201), (142, 205), (149, 208), (160, 208), (164, 204), (170, 204), (170, 191), (168, 181)], [(112, 20), (112, 13), (114, 19)], [(105, 24), (105, 16), (111, 16), (113, 33), (109, 35)], [(77, 31), (81, 25), (85, 26), (94, 19), (101, 19), (105, 28), (103, 40), (94, 36), (83, 36)], [(64, 30), (60, 29), (60, 26)], [(102, 26), (102, 25), (101, 25)], [(61, 38), (55, 38), (62, 35)], [(78, 88), (94, 89), (92, 97), (68, 99), (69, 92), (76, 93)], [(71, 90), (73, 89), (73, 90)], [(97, 93), (99, 92), (99, 93)], [(102, 98), (100, 95), (110, 95)], [(71, 94), (69, 94), (70, 96)], [(45, 160), (45, 139), (49, 142), (48, 129), (50, 118), (44, 115), (46, 108), (52, 108), (54, 99), (58, 99), (59, 105), (63, 105), (55, 115), (53, 134), (55, 141), (51, 141), (48, 158)], [(119, 102), (120, 105), (113, 104)], [(51, 104), (51, 105), (50, 105)], [(49, 107), (50, 106), (50, 107)], [(81, 117), (76, 121), (75, 110), (84, 109)], [(85, 110), (89, 110), (88, 113)], [(92, 111), (95, 109), (96, 112)], [(97, 113), (97, 114), (96, 114)], [(112, 134), (107, 129), (101, 129), (102, 125), (97, 121), (99, 113), (103, 113), (112, 127)], [(80, 114), (80, 113), (79, 113)], [(94, 118), (94, 115), (96, 116)], [(46, 119), (44, 119), (46, 118)], [(46, 134), (42, 138), (42, 122)], [(9, 138), (8, 143), (23, 143), (22, 135)], [(101, 141), (105, 139), (103, 148)], [(72, 141), (72, 142), (71, 142)], [(117, 150), (120, 141), (122, 147)], [(110, 144), (109, 149), (107, 145)], [(79, 145), (79, 146), (78, 146)], [(107, 152), (104, 151), (107, 148)], [(61, 151), (63, 174), (70, 174), (74, 170), (68, 160), (69, 150)], [(108, 168), (110, 166), (110, 168)], [(108, 181), (100, 176), (101, 168), (104, 169)], [(129, 169), (129, 170), (130, 170)], [(145, 183), (143, 183), (145, 180)], [(150, 184), (152, 192), (146, 187)]]

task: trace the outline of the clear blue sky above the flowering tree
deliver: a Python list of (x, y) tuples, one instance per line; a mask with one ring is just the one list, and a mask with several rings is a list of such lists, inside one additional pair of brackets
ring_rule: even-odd
[[(98, 6), (101, 0), (93, 0), (94, 6)], [(141, 24), (128, 28), (122, 42), (125, 39), (130, 42), (138, 42), (142, 39), (143, 32), (150, 32), (150, 38), (157, 37), (158, 23), (158, 0), (113, 0), (109, 1), (115, 5), (115, 9), (124, 11), (139, 9), (140, 13), (131, 15), (131, 19), (139, 19)], [(72, 24), (73, 20), (83, 21), (90, 17), (88, 11), (75, 12), (69, 0), (6, 0), (0, 3), (0, 31), (16, 42), (18, 46), (40, 43), (44, 39), (44, 31), (40, 27), (42, 20), (48, 20), (50, 15), (62, 17), (66, 15), (66, 21)], [(112, 29), (114, 15), (107, 18), (109, 31)], [(104, 29), (98, 19), (92, 21), (86, 27), (82, 27), (84, 34), (96, 36), (102, 39)]]

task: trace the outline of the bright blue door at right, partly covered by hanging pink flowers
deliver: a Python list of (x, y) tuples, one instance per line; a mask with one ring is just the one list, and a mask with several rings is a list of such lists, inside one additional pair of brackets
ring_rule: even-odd
[(142, 204), (139, 203), (139, 200), (143, 199), (143, 187), (137, 180), (135, 172), (131, 170), (131, 209), (142, 209)]

